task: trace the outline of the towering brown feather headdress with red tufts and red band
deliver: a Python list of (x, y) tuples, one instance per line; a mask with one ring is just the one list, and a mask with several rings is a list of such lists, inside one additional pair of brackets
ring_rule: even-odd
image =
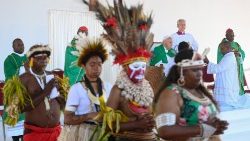
[(105, 7), (97, 1), (96, 15), (106, 31), (103, 37), (112, 44), (112, 53), (116, 55), (114, 64), (148, 60), (154, 37), (150, 32), (151, 14), (146, 16), (141, 4), (128, 8), (122, 0), (113, 2), (114, 6)]

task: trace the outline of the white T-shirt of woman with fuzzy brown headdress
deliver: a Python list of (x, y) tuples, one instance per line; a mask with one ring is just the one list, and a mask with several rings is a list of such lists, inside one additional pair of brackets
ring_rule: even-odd
[[(106, 98), (108, 98), (111, 91), (111, 85), (109, 83), (104, 83), (104, 91), (106, 93)], [(77, 106), (75, 111), (76, 115), (94, 112), (92, 111), (93, 104), (91, 104), (87, 91), (81, 82), (71, 86), (66, 102), (66, 107), (67, 106)]]

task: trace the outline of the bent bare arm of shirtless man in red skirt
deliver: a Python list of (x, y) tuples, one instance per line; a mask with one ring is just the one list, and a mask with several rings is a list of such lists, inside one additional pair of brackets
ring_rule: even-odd
[[(30, 85), (31, 82), (34, 83), (34, 82), (36, 82), (36, 80), (31, 81), (29, 77), (31, 77), (31, 75), (22, 75), (21, 81), (24, 84), (24, 86), (26, 87), (28, 94), (30, 95), (30, 97), (32, 99), (32, 103), (33, 103), (34, 107), (32, 107), (31, 103), (27, 101), (26, 102), (27, 104), (21, 110), (22, 112), (31, 111), (35, 107), (37, 107), (41, 102), (44, 101), (44, 98), (51, 93), (51, 90), (53, 89), (53, 87), (55, 85), (55, 79), (52, 79), (46, 84), (43, 91), (41, 90), (39, 92), (36, 92), (36, 90), (33, 90), (35, 86)], [(29, 80), (27, 78), (29, 78)]]

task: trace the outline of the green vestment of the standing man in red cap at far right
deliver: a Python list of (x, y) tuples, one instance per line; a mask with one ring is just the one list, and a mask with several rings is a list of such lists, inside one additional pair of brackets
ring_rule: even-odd
[[(226, 38), (222, 40), (227, 41)], [(232, 41), (231, 42), (232, 50), (238, 51), (240, 53), (240, 56), (236, 57), (237, 65), (238, 65), (238, 77), (239, 77), (239, 83), (240, 83), (240, 95), (244, 94), (244, 69), (243, 69), (243, 60), (245, 59), (245, 52), (241, 49), (240, 45), (237, 42)], [(217, 52), (217, 63), (221, 61), (223, 58), (223, 54), (221, 53), (220, 47), (218, 47)]]

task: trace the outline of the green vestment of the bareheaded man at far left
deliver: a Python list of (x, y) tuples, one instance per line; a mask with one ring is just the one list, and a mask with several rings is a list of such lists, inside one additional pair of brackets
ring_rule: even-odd
[[(10, 54), (4, 60), (4, 75), (5, 75), (5, 82), (11, 79), (15, 75), (19, 75), (20, 67), (24, 65), (27, 61), (26, 55), (19, 56), (16, 53)], [(3, 119), (7, 117), (7, 113), (4, 112)], [(20, 114), (18, 121), (24, 120), (24, 114)]]

